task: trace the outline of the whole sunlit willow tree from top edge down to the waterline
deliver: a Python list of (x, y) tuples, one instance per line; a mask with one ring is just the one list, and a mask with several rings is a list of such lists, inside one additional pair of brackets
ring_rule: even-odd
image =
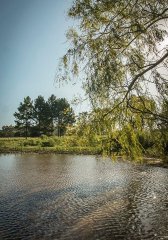
[(81, 66), (85, 71), (92, 112), (77, 119), (73, 134), (81, 144), (94, 146), (100, 138), (102, 151), (132, 159), (154, 149), (166, 154), (168, 52), (158, 46), (167, 37), (167, 5), (168, 0), (73, 2), (68, 14), (79, 29), (67, 33), (71, 48), (60, 80), (78, 75)]

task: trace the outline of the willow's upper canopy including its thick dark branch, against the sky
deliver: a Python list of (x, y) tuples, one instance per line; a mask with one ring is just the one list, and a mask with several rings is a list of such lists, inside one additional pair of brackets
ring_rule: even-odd
[[(107, 114), (131, 109), (132, 94), (158, 103), (167, 99), (167, 6), (168, 0), (74, 1), (68, 15), (78, 25), (67, 33), (71, 47), (62, 59), (62, 79), (82, 69), (92, 104), (111, 104)], [(159, 105), (155, 111), (145, 107), (143, 114), (168, 122)]]

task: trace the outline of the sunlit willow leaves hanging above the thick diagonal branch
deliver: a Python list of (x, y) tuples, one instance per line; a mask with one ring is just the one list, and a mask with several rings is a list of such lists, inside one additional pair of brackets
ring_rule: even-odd
[(78, 20), (79, 29), (70, 29), (67, 33), (72, 48), (63, 62), (74, 75), (78, 74), (79, 65), (85, 65), (85, 86), (92, 100), (115, 96), (117, 90), (122, 92), (121, 86), (128, 86), (129, 78), (153, 63), (149, 52), (156, 54), (153, 59), (158, 59), (156, 44), (163, 41), (166, 34), (165, 29), (160, 28), (160, 20), (168, 17), (167, 3), (74, 1), (68, 14)]

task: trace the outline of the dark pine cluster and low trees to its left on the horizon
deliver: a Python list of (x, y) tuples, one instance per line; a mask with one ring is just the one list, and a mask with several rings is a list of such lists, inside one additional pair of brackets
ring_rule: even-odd
[(3, 126), (1, 137), (35, 137), (65, 134), (75, 122), (75, 114), (65, 98), (51, 95), (46, 101), (38, 96), (34, 101), (25, 97), (14, 113), (15, 126)]

